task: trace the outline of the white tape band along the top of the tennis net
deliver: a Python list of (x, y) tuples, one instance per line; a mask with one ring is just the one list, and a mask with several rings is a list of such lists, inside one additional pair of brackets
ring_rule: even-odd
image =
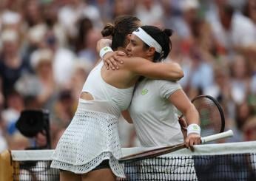
[[(132, 153), (150, 150), (158, 147), (133, 147), (122, 148), (123, 156), (127, 156)], [(161, 157), (171, 156), (194, 156), (194, 155), (221, 155), (221, 154), (244, 154), (255, 153), (256, 141), (237, 142), (237, 143), (216, 143), (194, 146), (195, 150), (191, 151), (188, 148), (183, 148), (178, 151), (174, 151), (169, 154), (165, 154)], [(14, 161), (25, 160), (52, 160), (53, 149), (49, 150), (12, 150), (11, 156)]]

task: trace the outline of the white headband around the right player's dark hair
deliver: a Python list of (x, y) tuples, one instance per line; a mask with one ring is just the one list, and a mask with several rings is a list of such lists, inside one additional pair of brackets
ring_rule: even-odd
[(147, 34), (141, 27), (139, 27), (137, 30), (132, 32), (132, 34), (138, 36), (138, 38), (144, 41), (144, 43), (147, 44), (149, 47), (154, 47), (155, 51), (161, 54), (162, 52), (161, 45), (158, 44), (158, 41), (155, 41), (155, 39), (152, 38), (151, 35)]

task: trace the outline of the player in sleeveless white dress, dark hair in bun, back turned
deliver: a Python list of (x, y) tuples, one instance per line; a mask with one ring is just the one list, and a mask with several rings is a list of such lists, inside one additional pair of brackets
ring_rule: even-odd
[[(129, 34), (140, 25), (138, 18), (122, 16), (104, 31), (112, 35), (112, 47), (124, 48), (129, 43)], [(160, 44), (161, 47), (166, 45), (169, 47), (168, 42)], [(125, 64), (119, 71), (108, 70), (103, 61), (92, 69), (81, 91), (73, 120), (53, 154), (51, 167), (61, 169), (62, 181), (109, 181), (125, 177), (124, 168), (118, 163), (121, 146), (117, 122), (121, 111), (129, 106), (136, 81), (140, 75), (169, 80), (183, 77), (180, 66), (153, 63), (158, 62), (153, 58), (155, 49), (159, 50), (158, 45), (144, 49), (143, 58), (124, 57)], [(168, 53), (164, 53), (164, 58)]]

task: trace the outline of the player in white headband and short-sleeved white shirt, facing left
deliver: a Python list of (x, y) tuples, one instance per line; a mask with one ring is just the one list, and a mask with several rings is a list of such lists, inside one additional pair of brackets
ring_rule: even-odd
[[(161, 31), (157, 27), (143, 26), (139, 28), (132, 33), (131, 41), (127, 46), (127, 54), (144, 57), (146, 55), (144, 49), (150, 49), (154, 45), (158, 47), (158, 49), (155, 49), (154, 58), (158, 61), (164, 60), (169, 53), (166, 47), (169, 47), (170, 44), (170, 41), (168, 41), (170, 33), (167, 32), (167, 30)], [(161, 46), (162, 44), (164, 46)], [(126, 64), (125, 61), (124, 64)], [(118, 64), (120, 69), (122, 69), (121, 65)], [(178, 122), (177, 109), (186, 117), (186, 122), (189, 125), (185, 139), (186, 146), (189, 147), (201, 143), (198, 111), (177, 82), (152, 80), (150, 78), (143, 78), (138, 81), (132, 97), (132, 103), (129, 106), (129, 112), (125, 112), (123, 115), (129, 123), (134, 123), (135, 131), (142, 146), (170, 146), (184, 142), (181, 126)], [(179, 164), (184, 166), (183, 169), (186, 169), (185, 165), (193, 168), (194, 163), (191, 158), (186, 162), (181, 160)], [(150, 163), (146, 163), (146, 161), (142, 162), (141, 165), (144, 165), (147, 173), (157, 173), (158, 171), (158, 168), (155, 166), (150, 167)], [(142, 170), (144, 168), (141, 167)], [(162, 180), (168, 178), (183, 180), (182, 175), (172, 174), (175, 171), (172, 163), (168, 167), (165, 165), (164, 168), (168, 168), (169, 171), (159, 168), (161, 174), (141, 174), (143, 177), (141, 179)], [(181, 170), (180, 172), (182, 173)], [(192, 180), (196, 179), (195, 170), (191, 170), (189, 177)]]

